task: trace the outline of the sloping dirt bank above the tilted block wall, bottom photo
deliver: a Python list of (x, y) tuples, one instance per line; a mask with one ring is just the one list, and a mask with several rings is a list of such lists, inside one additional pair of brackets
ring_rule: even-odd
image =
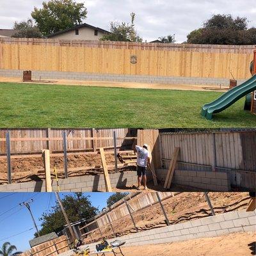
[[(211, 192), (209, 193), (209, 197), (216, 214), (246, 209), (246, 205), (250, 200), (248, 193)], [(211, 210), (209, 209), (209, 206), (205, 201), (204, 193), (202, 192), (180, 193), (179, 195), (163, 200), (163, 205), (171, 224), (211, 216)], [(163, 211), (159, 204), (154, 204), (134, 212), (132, 216), (139, 232), (166, 226)], [(136, 232), (129, 215), (120, 218), (111, 224), (117, 236), (124, 236)], [(84, 241), (86, 243), (99, 241), (102, 239), (100, 232), (104, 234), (104, 237), (106, 238), (115, 237), (110, 225), (105, 225), (104, 227), (100, 227), (100, 231), (93, 231), (90, 236), (84, 239)]]

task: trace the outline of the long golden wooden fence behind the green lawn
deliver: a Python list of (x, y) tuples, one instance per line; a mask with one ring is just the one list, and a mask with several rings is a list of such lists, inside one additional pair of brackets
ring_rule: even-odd
[[(2, 39), (0, 68), (217, 78), (232, 78), (231, 72), (236, 79), (247, 79), (251, 76), (249, 65), (253, 59), (254, 45), (235, 47), (171, 44), (163, 47), (161, 44), (153, 47), (152, 44), (97, 42), (97, 47), (94, 47), (92, 44), (93, 42), (75, 44), (72, 41), (67, 46), (61, 41), (45, 39), (33, 42), (29, 39)], [(118, 48), (118, 45), (122, 46)], [(137, 62), (131, 63), (131, 56), (134, 55)]]

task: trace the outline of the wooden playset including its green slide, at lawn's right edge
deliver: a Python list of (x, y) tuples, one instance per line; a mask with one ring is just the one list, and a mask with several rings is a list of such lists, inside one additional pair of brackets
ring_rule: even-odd
[(223, 93), (218, 99), (205, 104), (202, 107), (201, 115), (211, 120), (214, 113), (220, 113), (244, 96), (244, 110), (250, 110), (253, 114), (256, 114), (256, 50), (253, 52), (250, 72), (252, 77), (247, 81)]

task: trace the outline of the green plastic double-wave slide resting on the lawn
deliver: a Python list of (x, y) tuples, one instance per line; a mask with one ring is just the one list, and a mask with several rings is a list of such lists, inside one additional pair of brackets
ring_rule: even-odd
[(208, 120), (212, 119), (213, 113), (219, 113), (224, 109), (234, 104), (237, 100), (244, 97), (246, 94), (256, 90), (256, 74), (250, 77), (247, 81), (239, 86), (236, 86), (228, 92), (223, 93), (218, 99), (205, 104), (202, 107), (201, 115), (206, 117)]

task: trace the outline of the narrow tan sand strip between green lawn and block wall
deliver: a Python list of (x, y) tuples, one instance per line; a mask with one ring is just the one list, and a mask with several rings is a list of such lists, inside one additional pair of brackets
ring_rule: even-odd
[[(46, 79), (44, 79), (46, 80)], [(50, 79), (49, 79), (50, 80)], [(53, 79), (51, 79), (52, 81)], [(20, 77), (0, 77), (1, 82), (5, 83), (22, 83)], [(32, 82), (26, 82), (31, 83)], [(190, 91), (218, 91), (225, 92), (228, 86), (222, 86), (220, 90), (218, 85), (210, 84), (160, 84), (160, 83), (128, 83), (128, 82), (114, 82), (114, 81), (81, 81), (71, 79), (56, 79), (54, 83), (39, 83), (36, 84), (65, 84), (65, 85), (79, 85), (79, 86), (97, 86), (97, 87), (116, 87), (116, 88), (140, 88), (140, 89), (157, 89), (157, 90), (190, 90)], [(207, 88), (207, 89), (205, 89)]]

